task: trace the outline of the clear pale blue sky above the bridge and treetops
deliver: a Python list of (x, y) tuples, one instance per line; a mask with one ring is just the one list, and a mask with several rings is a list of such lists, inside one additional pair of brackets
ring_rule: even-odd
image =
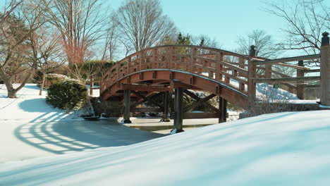
[[(123, 0), (109, 0), (111, 8), (121, 6)], [(161, 0), (163, 11), (179, 30), (190, 35), (208, 35), (215, 38), (224, 49), (237, 48), (239, 35), (259, 29), (274, 39), (282, 37), (281, 18), (262, 11), (263, 1), (258, 0)]]

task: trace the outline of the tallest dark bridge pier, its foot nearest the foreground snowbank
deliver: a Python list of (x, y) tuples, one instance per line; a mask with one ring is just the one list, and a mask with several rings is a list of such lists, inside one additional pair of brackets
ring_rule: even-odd
[(175, 99), (174, 99), (174, 129), (173, 130), (175, 130), (176, 133), (184, 131), (182, 102), (183, 102), (183, 88), (178, 87), (175, 89)]

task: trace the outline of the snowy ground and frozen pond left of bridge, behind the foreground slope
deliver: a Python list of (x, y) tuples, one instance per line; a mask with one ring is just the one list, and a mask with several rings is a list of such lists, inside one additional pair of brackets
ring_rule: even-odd
[(83, 120), (78, 118), (81, 111), (54, 109), (45, 102), (46, 92), (38, 94), (39, 87), (30, 84), (18, 92), (18, 99), (9, 99), (6, 86), (0, 85), (0, 163), (118, 147), (164, 136), (120, 125), (120, 119)]

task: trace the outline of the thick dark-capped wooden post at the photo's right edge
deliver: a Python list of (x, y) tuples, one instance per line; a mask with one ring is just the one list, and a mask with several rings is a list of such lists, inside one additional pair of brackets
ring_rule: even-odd
[(321, 44), (321, 104), (330, 106), (330, 46), (329, 33), (322, 34)]

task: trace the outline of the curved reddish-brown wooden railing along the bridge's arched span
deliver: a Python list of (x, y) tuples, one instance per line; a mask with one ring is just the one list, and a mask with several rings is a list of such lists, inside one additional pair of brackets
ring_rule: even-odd
[(143, 70), (178, 70), (219, 82), (247, 95), (248, 56), (204, 46), (168, 45), (138, 51), (103, 77), (101, 94), (121, 78)]

